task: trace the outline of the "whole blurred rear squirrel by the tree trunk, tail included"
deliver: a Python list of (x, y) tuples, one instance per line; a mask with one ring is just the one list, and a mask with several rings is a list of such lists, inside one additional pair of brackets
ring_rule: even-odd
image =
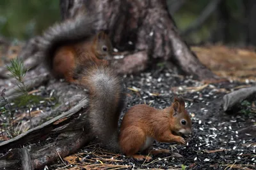
[(72, 82), (77, 68), (87, 62), (109, 64), (113, 47), (108, 34), (94, 31), (95, 20), (77, 15), (44, 32), (39, 46), (45, 66), (55, 78)]

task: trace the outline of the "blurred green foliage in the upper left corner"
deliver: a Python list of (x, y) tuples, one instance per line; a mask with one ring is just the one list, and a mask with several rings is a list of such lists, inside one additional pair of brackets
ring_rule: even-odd
[(0, 35), (28, 39), (60, 18), (59, 1), (1, 0)]

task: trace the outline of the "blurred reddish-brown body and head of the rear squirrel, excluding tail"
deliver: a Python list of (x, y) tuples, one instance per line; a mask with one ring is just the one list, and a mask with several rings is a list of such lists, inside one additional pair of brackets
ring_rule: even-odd
[[(102, 46), (108, 48), (108, 52), (102, 51)], [(112, 45), (109, 37), (104, 32), (99, 32), (90, 41), (61, 46), (54, 53), (54, 76), (63, 77), (72, 82), (77, 66), (85, 66), (87, 62), (109, 64), (112, 55)]]

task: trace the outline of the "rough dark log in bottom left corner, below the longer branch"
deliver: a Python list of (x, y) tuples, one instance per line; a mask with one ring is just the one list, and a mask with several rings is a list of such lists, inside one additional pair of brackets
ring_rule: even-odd
[[(59, 159), (66, 157), (90, 141), (87, 131), (65, 132), (63, 138), (45, 146), (26, 146), (22, 149), (13, 149), (0, 158), (2, 169), (42, 169)], [(27, 158), (27, 159), (26, 159)]]

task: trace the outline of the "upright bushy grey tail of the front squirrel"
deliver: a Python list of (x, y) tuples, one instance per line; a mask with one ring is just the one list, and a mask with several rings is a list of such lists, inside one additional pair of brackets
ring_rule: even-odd
[(107, 149), (120, 152), (118, 143), (118, 120), (125, 104), (125, 90), (122, 78), (113, 67), (86, 64), (79, 76), (81, 83), (90, 93), (90, 126)]

